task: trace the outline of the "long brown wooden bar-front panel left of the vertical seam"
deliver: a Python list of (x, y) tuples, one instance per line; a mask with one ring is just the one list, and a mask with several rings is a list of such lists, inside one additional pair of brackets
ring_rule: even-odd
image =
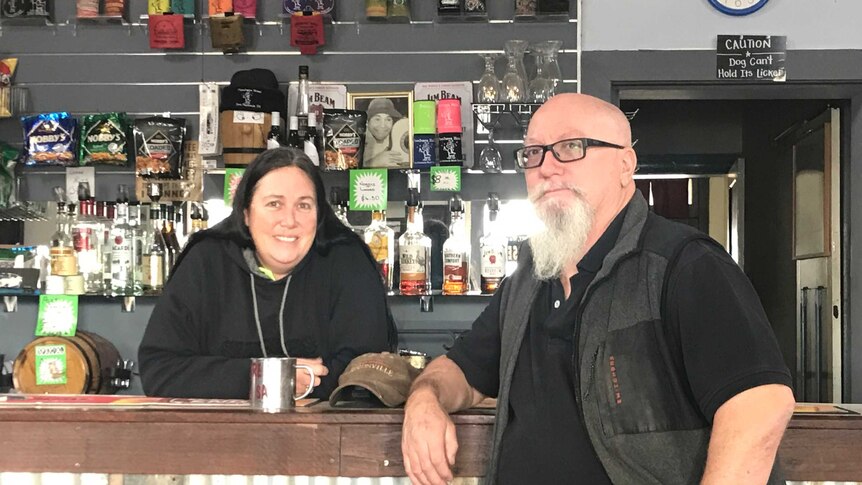
[(338, 425), (3, 423), (0, 470), (335, 476)]

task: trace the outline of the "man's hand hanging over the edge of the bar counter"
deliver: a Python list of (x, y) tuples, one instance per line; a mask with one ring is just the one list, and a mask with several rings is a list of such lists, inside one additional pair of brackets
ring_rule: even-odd
[(404, 406), (401, 452), (415, 484), (443, 485), (452, 480), (458, 451), (455, 425), (430, 388), (416, 389)]

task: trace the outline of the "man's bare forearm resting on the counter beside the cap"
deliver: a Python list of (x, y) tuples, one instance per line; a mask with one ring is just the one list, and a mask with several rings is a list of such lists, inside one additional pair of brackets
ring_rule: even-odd
[(445, 355), (434, 359), (413, 382), (410, 395), (432, 393), (447, 413), (470, 408), (485, 398), (467, 382), (461, 368)]

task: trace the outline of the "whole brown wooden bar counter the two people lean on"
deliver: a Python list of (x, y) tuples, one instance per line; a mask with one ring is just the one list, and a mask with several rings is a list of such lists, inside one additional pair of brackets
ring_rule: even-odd
[[(862, 405), (799, 405), (780, 459), (789, 480), (862, 481)], [(293, 412), (0, 408), (0, 470), (122, 474), (403, 476), (400, 409)], [(481, 476), (493, 410), (453, 416), (455, 472)]]

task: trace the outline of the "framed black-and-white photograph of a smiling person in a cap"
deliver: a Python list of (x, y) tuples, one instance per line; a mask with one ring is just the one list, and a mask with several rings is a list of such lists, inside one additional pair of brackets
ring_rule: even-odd
[(347, 106), (368, 114), (365, 168), (413, 166), (413, 92), (348, 93)]

